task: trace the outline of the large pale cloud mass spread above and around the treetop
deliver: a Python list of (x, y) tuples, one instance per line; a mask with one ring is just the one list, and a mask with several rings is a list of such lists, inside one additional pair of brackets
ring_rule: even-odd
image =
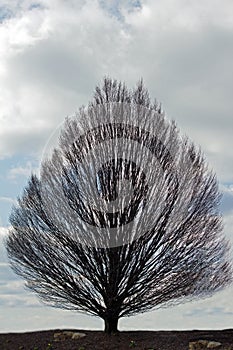
[(13, 1), (0, 28), (1, 158), (41, 152), (102, 76), (143, 76), (221, 181), (233, 181), (231, 0), (38, 4)]

